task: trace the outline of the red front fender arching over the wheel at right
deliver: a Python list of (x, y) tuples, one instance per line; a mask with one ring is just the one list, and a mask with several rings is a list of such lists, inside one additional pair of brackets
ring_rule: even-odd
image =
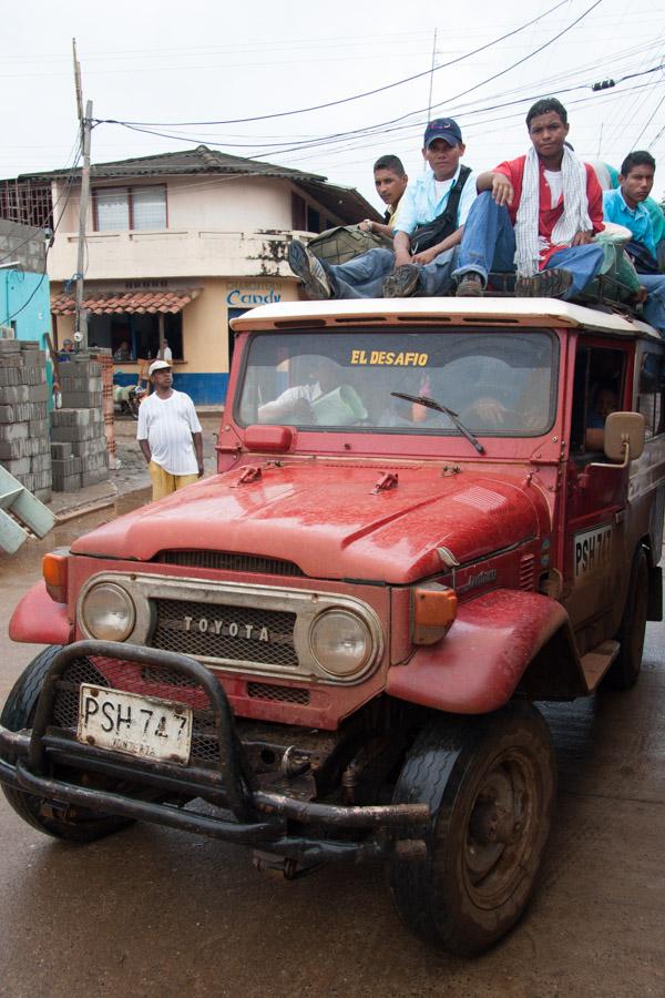
[(587, 692), (569, 615), (550, 597), (497, 589), (462, 603), (447, 637), (388, 672), (386, 692), (456, 714)]

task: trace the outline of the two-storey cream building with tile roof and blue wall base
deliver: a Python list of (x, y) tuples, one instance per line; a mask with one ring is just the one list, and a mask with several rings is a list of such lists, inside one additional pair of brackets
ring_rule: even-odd
[[(0, 217), (55, 230), (48, 271), (60, 344), (74, 332), (80, 183), (80, 170), (0, 181)], [(229, 319), (298, 297), (286, 263), (294, 232), (380, 221), (354, 189), (205, 145), (95, 164), (91, 190), (89, 342), (122, 357), (129, 380), (166, 339), (176, 387), (200, 405), (224, 401)]]

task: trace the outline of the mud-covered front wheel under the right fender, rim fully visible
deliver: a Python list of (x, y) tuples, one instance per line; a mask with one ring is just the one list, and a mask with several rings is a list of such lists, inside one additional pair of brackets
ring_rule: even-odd
[(533, 890), (555, 785), (550, 733), (530, 704), (437, 719), (421, 733), (395, 800), (430, 805), (428, 858), (390, 870), (398, 910), (416, 935), (471, 956), (511, 928)]

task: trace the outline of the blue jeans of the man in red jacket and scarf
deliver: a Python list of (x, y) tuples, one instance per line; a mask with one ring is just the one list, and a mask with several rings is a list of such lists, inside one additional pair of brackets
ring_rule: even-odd
[[(553, 253), (545, 269), (567, 271), (573, 283), (564, 298), (574, 298), (600, 273), (603, 247), (595, 243), (569, 246)], [(499, 205), (489, 191), (479, 194), (469, 212), (457, 269), (453, 277), (473, 272), (487, 284), (490, 271), (511, 273), (515, 269), (515, 234), (505, 205)]]

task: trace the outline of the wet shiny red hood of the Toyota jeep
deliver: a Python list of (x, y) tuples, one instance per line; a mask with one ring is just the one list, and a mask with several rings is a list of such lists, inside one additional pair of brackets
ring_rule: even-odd
[[(389, 467), (389, 466), (388, 466)], [(460, 564), (541, 532), (542, 493), (524, 472), (399, 468), (381, 488), (376, 465), (264, 466), (216, 475), (120, 517), (72, 552), (151, 561), (161, 551), (205, 550), (295, 562), (306, 576), (391, 583), (439, 573), (438, 548)]]

